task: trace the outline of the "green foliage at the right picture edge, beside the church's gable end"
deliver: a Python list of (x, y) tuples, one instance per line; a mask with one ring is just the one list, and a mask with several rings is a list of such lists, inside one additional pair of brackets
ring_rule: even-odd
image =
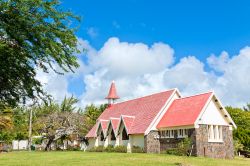
[(237, 126), (237, 129), (233, 131), (234, 140), (238, 144), (242, 144), (244, 150), (250, 151), (250, 111), (247, 111), (248, 106), (245, 109), (233, 107), (226, 107), (226, 109)]

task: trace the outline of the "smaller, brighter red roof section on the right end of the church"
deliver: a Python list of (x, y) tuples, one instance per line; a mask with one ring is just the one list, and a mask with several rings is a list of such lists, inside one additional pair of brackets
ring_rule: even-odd
[(193, 125), (212, 92), (176, 99), (157, 125), (157, 128)]

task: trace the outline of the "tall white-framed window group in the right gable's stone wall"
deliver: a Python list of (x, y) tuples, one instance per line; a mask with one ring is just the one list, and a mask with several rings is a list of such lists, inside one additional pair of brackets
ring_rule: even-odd
[(222, 142), (222, 126), (208, 125), (208, 142)]

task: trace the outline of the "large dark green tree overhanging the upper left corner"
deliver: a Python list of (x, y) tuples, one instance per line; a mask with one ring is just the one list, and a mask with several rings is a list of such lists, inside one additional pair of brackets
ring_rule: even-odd
[(58, 0), (0, 1), (0, 101), (15, 106), (48, 99), (36, 69), (62, 74), (78, 67), (75, 21)]

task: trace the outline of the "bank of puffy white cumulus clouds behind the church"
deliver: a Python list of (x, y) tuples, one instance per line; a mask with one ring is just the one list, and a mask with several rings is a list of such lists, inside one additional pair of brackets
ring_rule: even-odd
[[(116, 81), (121, 100), (178, 88), (183, 96), (215, 91), (224, 105), (243, 106), (250, 102), (250, 48), (245, 47), (238, 55), (229, 56), (226, 51), (210, 55), (206, 62), (195, 56), (175, 61), (174, 50), (165, 43), (121, 42), (108, 39), (99, 50), (88, 41), (79, 39), (85, 48), (84, 60), (75, 74), (66, 76), (40, 75), (46, 89), (55, 98), (70, 94), (68, 80), (79, 77), (84, 92), (79, 96), (80, 105), (103, 103), (110, 83)], [(209, 67), (209, 70), (206, 66)], [(39, 74), (38, 74), (39, 75)]]

